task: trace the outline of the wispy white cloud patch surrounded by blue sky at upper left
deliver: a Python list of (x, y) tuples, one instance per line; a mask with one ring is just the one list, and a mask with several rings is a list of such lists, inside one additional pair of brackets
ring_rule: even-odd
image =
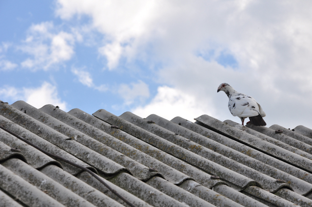
[(74, 55), (77, 35), (58, 31), (52, 22), (32, 25), (19, 49), (33, 58), (21, 62), (24, 68), (49, 70)]

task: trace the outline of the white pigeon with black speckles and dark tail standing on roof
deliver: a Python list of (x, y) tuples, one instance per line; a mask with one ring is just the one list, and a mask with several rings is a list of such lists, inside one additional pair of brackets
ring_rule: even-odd
[(253, 97), (238, 93), (227, 83), (221, 83), (218, 87), (217, 92), (224, 91), (229, 97), (229, 110), (234, 116), (238, 116), (242, 125), (244, 125), (244, 120), (249, 117), (250, 123), (255, 126), (265, 126), (267, 125), (262, 117), (266, 114), (264, 113), (260, 104), (258, 104)]

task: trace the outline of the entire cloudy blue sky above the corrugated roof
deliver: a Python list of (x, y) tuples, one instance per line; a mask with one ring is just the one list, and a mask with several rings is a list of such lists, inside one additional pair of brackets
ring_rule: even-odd
[(221, 83), (273, 124), (312, 129), (312, 1), (1, 0), (0, 100), (240, 123)]

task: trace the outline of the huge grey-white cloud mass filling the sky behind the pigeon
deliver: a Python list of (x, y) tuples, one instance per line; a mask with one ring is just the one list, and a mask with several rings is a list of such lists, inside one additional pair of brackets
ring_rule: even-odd
[[(192, 94), (196, 102), (209, 100), (221, 120), (237, 120), (228, 112), (227, 97), (216, 94), (228, 82), (259, 101), (269, 125), (312, 128), (309, 1), (59, 0), (58, 5), (63, 19), (91, 17), (104, 35), (98, 51), (110, 69), (121, 57), (146, 58), (163, 65), (156, 71), (158, 82)], [(224, 66), (222, 51), (237, 68)]]

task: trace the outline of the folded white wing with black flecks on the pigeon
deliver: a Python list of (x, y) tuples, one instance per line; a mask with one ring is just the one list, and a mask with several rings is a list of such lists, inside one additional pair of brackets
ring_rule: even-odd
[(259, 114), (259, 105), (254, 98), (246, 95), (232, 96), (229, 99), (229, 110), (234, 116), (251, 117)]

